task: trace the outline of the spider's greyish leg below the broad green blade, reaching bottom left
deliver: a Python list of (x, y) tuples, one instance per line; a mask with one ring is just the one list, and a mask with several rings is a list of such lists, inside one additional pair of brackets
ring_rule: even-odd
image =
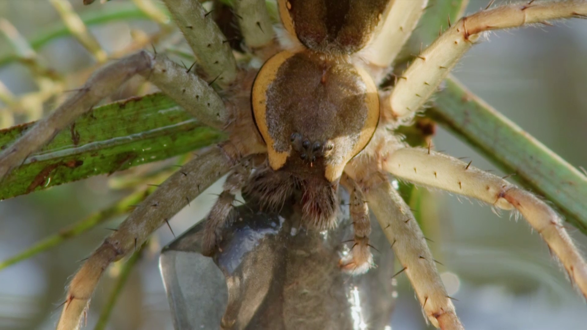
[(188, 201), (227, 173), (234, 161), (221, 147), (213, 147), (181, 167), (135, 208), (73, 277), (57, 329), (77, 329), (97, 282), (108, 265), (140, 247), (153, 231), (185, 207)]

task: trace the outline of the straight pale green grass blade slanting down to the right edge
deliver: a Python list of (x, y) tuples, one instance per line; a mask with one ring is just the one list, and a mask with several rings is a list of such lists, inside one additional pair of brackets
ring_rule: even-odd
[(567, 220), (587, 234), (587, 176), (524, 132), (454, 78), (434, 96), (427, 111), (438, 123), (481, 151), (501, 169), (514, 172), (552, 201)]

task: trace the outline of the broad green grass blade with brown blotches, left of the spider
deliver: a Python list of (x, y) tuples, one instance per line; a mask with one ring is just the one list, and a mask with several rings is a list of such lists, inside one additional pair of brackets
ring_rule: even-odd
[[(0, 130), (0, 149), (32, 123)], [(100, 106), (29, 156), (0, 187), (0, 199), (164, 160), (225, 139), (162, 94)]]

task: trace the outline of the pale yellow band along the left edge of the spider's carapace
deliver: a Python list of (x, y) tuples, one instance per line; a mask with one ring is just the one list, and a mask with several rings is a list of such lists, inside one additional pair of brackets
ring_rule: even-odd
[(268, 59), (267, 62), (262, 66), (261, 70), (255, 79), (255, 83), (253, 85), (252, 90), (252, 106), (253, 106), (253, 113), (255, 115), (255, 122), (257, 122), (257, 128), (259, 132), (265, 139), (265, 143), (267, 144), (267, 153), (269, 154), (269, 165), (274, 170), (281, 169), (284, 166), (285, 161), (287, 160), (290, 150), (288, 151), (275, 151), (273, 147), (275, 140), (271, 137), (268, 132), (267, 128), (267, 90), (269, 86), (275, 80), (275, 76), (279, 70), (279, 67), (289, 58), (294, 56), (295, 53), (289, 52), (288, 50), (284, 50), (283, 52), (279, 52), (274, 55), (272, 58)]

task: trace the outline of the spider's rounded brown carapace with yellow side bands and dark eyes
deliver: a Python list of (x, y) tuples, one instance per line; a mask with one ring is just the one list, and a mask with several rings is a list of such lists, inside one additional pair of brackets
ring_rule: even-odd
[(302, 180), (338, 180), (379, 120), (379, 96), (370, 76), (312, 50), (284, 51), (269, 59), (255, 79), (252, 106), (271, 168)]

